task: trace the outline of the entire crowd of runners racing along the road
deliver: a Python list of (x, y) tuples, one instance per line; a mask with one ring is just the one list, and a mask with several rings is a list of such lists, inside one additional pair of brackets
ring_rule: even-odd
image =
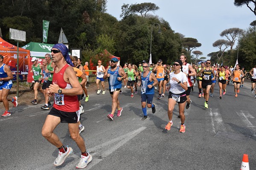
[[(70, 137), (76, 142), (81, 150), (81, 159), (76, 168), (84, 168), (92, 160), (92, 156), (87, 153), (84, 139), (80, 136), (84, 126), (81, 125), (80, 114), (84, 113), (81, 100), (89, 101), (87, 93), (87, 82), (89, 79), (88, 62), (81, 65), (82, 61), (76, 56), (70, 56), (68, 49), (63, 44), (56, 44), (51, 50), (51, 54), (46, 54), (42, 63), (38, 63), (36, 57), (32, 57), (31, 72), (34, 74), (35, 99), (31, 101), (33, 105), (38, 105), (38, 91), (44, 94), (45, 103), (41, 109), (51, 110), (47, 115), (42, 128), (42, 135), (55, 147), (59, 149), (58, 157), (54, 161), (55, 166), (63, 164), (73, 149), (65, 146), (53, 130), (60, 122), (68, 123)], [(184, 110), (189, 109), (192, 103), (190, 99), (191, 91), (198, 84), (198, 97), (204, 97), (204, 108), (208, 108), (209, 99), (213, 96), (215, 84), (219, 85), (219, 98), (223, 99), (226, 94), (226, 86), (234, 86), (234, 97), (238, 97), (240, 88), (244, 87), (244, 77), (247, 72), (244, 67), (237, 64), (233, 66), (214, 65), (210, 60), (201, 62), (200, 65), (189, 64), (184, 54), (180, 59), (175, 60), (171, 65), (163, 64), (159, 59), (157, 64), (149, 64), (143, 61), (139, 66), (132, 63), (125, 63), (122, 67), (118, 65), (119, 60), (112, 58), (108, 66), (102, 65), (98, 61), (96, 68), (96, 94), (105, 95), (105, 79), (108, 80), (109, 93), (112, 98), (111, 113), (108, 119), (114, 119), (122, 115), (122, 107), (119, 101), (119, 94), (122, 94), (122, 87), (131, 89), (131, 98), (140, 93), (143, 117), (148, 118), (147, 108), (151, 108), (152, 113), (156, 112), (156, 104), (153, 103), (155, 93), (157, 99), (168, 97), (168, 123), (165, 127), (170, 130), (172, 127), (172, 116), (175, 104), (178, 103), (180, 117), (180, 132), (186, 131)], [(255, 91), (256, 65), (248, 72), (251, 76), (251, 92)], [(0, 95), (1, 102), (5, 106), (5, 113), (2, 116), (10, 116), (9, 102), (17, 106), (17, 97), (8, 98), (9, 90), (12, 88), (12, 73), (7, 65), (3, 63), (3, 56), (0, 55)], [(43, 81), (43, 83), (42, 83)], [(101, 87), (100, 87), (101, 82)], [(123, 85), (122, 85), (123, 83)], [(138, 90), (140, 88), (140, 91)], [(102, 90), (101, 90), (102, 88)], [(165, 96), (166, 92), (168, 96)], [(139, 95), (137, 95), (139, 96)], [(256, 98), (256, 91), (255, 97)], [(52, 103), (52, 100), (54, 101)]]

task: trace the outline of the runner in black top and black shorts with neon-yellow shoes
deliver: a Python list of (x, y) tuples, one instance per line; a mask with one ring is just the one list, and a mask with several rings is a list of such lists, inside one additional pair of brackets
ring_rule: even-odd
[[(209, 91), (212, 86), (212, 80), (215, 80), (214, 70), (211, 68), (211, 61), (208, 59), (206, 61), (206, 67), (202, 68), (198, 75), (202, 77), (202, 88), (204, 91), (204, 108), (208, 108), (208, 100), (209, 100)], [(211, 75), (213, 78), (211, 79)]]

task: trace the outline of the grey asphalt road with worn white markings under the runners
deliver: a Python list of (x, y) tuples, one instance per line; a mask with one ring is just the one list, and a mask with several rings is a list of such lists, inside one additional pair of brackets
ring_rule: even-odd
[[(198, 98), (197, 86), (194, 89), (192, 105), (185, 110), (185, 133), (179, 133), (177, 105), (174, 124), (170, 131), (165, 130), (167, 93), (159, 100), (156, 91), (153, 102), (157, 111), (152, 114), (147, 109), (148, 119), (144, 121), (140, 94), (131, 98), (130, 90), (123, 88), (119, 95), (122, 115), (115, 114), (113, 121), (107, 118), (111, 112), (109, 92), (89, 94), (89, 102), (82, 101), (85, 113), (81, 122), (85, 130), (81, 136), (93, 160), (85, 169), (239, 170), (244, 153), (249, 156), (250, 168), (256, 169), (256, 99), (250, 93), (250, 82), (241, 88), (237, 98), (233, 85), (229, 85), (227, 94), (219, 99), (215, 85), (209, 109), (204, 108), (204, 99)], [(81, 153), (69, 136), (67, 124), (58, 125), (55, 133), (73, 148), (73, 153), (61, 166), (53, 166), (58, 149), (41, 136), (49, 111), (40, 107), (19, 105), (12, 109), (12, 116), (0, 118), (1, 170), (75, 169)]]

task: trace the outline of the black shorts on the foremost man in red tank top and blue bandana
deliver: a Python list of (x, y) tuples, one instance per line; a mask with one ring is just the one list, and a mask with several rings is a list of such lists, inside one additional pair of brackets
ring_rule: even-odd
[(61, 123), (77, 123), (80, 119), (80, 110), (76, 112), (65, 112), (52, 108), (48, 115), (61, 118)]

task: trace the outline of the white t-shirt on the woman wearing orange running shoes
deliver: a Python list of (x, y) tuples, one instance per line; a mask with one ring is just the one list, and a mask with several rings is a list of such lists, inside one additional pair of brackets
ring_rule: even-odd
[(186, 74), (183, 73), (182, 71), (180, 71), (179, 74), (174, 74), (174, 72), (170, 73), (170, 85), (171, 85), (170, 92), (172, 92), (173, 94), (181, 94), (185, 92), (184, 88), (182, 88), (180, 84), (177, 83), (177, 81), (172, 80), (173, 77), (175, 77), (182, 83), (188, 82), (188, 78), (186, 77)]

